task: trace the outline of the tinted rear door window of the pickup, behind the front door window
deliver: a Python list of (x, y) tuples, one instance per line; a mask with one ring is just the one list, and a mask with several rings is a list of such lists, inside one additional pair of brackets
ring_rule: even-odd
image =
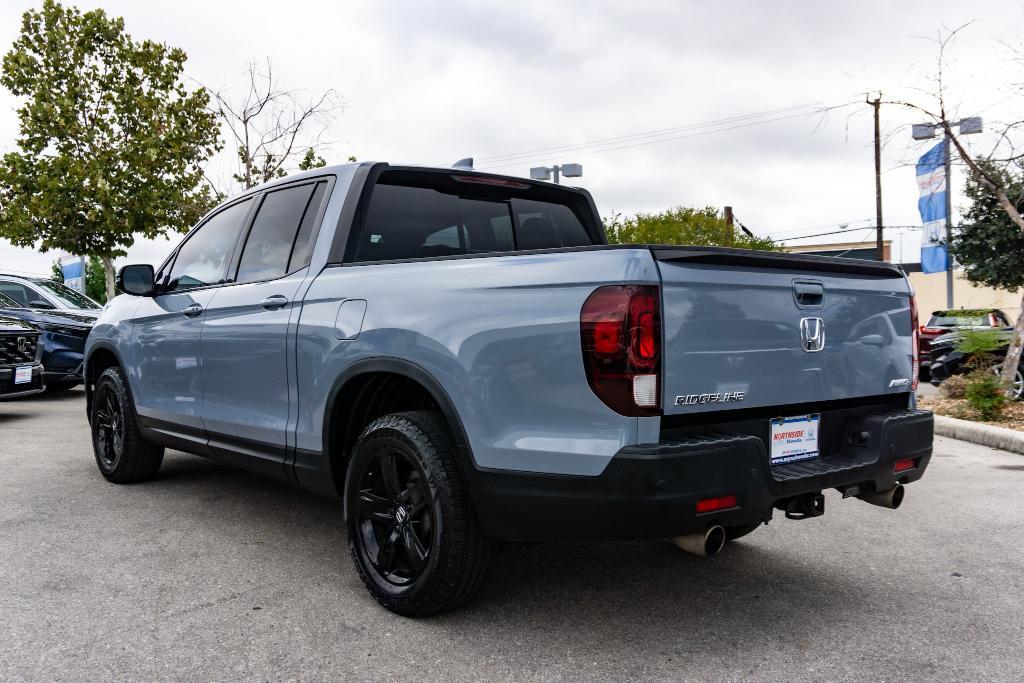
[[(239, 262), (240, 283), (273, 280), (308, 265), (312, 224), (326, 182), (267, 193), (246, 239)], [(298, 251), (296, 251), (298, 250)]]

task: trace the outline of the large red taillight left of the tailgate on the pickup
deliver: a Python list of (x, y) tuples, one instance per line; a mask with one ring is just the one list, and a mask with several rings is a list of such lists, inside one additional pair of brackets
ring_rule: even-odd
[(587, 381), (611, 410), (660, 415), (662, 312), (653, 285), (611, 285), (587, 297), (580, 311)]

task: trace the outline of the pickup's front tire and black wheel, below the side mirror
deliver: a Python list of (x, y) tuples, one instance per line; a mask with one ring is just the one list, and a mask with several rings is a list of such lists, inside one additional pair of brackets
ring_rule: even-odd
[(99, 472), (114, 483), (152, 479), (164, 461), (164, 447), (138, 431), (135, 402), (121, 369), (108, 368), (96, 382), (89, 424)]

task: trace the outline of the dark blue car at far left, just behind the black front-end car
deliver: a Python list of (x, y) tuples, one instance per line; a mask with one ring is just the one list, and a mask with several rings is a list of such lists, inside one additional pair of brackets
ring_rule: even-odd
[(0, 293), (0, 315), (25, 321), (39, 331), (48, 390), (62, 391), (82, 383), (85, 340), (96, 322), (93, 311), (32, 308)]

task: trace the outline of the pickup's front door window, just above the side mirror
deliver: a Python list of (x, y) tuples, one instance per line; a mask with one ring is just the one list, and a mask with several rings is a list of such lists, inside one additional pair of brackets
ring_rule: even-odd
[(178, 249), (171, 267), (168, 292), (207, 287), (223, 282), (227, 262), (242, 231), (251, 200), (232, 204), (203, 223)]

